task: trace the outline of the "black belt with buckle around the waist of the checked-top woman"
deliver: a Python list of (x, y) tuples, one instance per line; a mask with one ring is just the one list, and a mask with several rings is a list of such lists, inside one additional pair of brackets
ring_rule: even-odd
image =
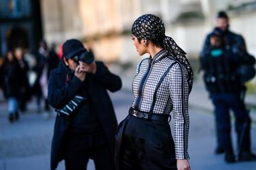
[[(141, 112), (134, 110), (134, 108), (130, 107), (129, 114), (138, 118), (149, 119), (149, 112)], [(167, 121), (170, 122), (169, 114), (152, 114), (151, 119), (153, 121)]]

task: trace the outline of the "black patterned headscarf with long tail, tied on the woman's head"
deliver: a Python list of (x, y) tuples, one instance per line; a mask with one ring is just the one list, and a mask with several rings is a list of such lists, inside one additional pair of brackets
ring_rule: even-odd
[(163, 41), (164, 49), (167, 49), (175, 60), (179, 61), (188, 72), (189, 92), (193, 85), (193, 70), (185, 56), (185, 51), (175, 43), (171, 37), (165, 35), (164, 22), (157, 16), (145, 14), (137, 18), (132, 24), (132, 35), (138, 39)]

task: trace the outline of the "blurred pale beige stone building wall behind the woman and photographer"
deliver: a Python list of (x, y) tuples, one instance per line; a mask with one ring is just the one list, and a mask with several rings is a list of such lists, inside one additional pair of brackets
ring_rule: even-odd
[(252, 0), (41, 0), (43, 33), (48, 42), (81, 39), (100, 60), (121, 63), (137, 62), (130, 27), (141, 14), (160, 16), (166, 35), (173, 37), (192, 60), (198, 58), (204, 37), (221, 9), (230, 14), (231, 29), (244, 35), (249, 51), (256, 56), (252, 36), (255, 6)]

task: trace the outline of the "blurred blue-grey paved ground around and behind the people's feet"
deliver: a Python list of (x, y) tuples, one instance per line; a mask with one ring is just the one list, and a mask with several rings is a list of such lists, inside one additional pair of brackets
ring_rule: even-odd
[[(124, 88), (118, 93), (111, 94), (115, 105), (117, 119), (120, 122), (127, 115), (132, 102), (130, 80), (124, 79)], [(200, 89), (200, 85), (196, 85)], [(201, 90), (202, 92), (202, 90)], [(206, 94), (191, 93), (189, 102)], [(205, 96), (204, 96), (205, 98)], [(199, 100), (201, 101), (201, 100)], [(203, 100), (204, 101), (204, 100)], [(255, 170), (256, 162), (226, 164), (223, 155), (213, 154), (215, 148), (214, 118), (209, 101), (199, 102), (203, 107), (193, 105), (189, 108), (189, 154), (191, 169), (201, 170)], [(211, 104), (210, 104), (211, 105)], [(54, 113), (50, 119), (44, 119), (43, 114), (35, 113), (35, 104), (29, 104), (29, 112), (21, 115), (20, 121), (10, 124), (7, 117), (7, 104), (0, 102), (0, 170), (44, 170), (50, 167), (50, 144), (54, 127)], [(253, 151), (256, 152), (256, 129), (251, 131)], [(233, 134), (234, 136), (234, 134)], [(235, 137), (234, 137), (234, 140)], [(58, 169), (65, 169), (60, 163)], [(92, 161), (88, 170), (94, 169)]]

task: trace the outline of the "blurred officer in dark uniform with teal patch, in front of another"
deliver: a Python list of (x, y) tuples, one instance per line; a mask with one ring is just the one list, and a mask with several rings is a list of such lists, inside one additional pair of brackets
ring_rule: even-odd
[(251, 152), (251, 118), (241, 98), (244, 75), (238, 72), (243, 64), (255, 63), (253, 56), (240, 55), (225, 43), (225, 33), (215, 28), (211, 34), (211, 48), (200, 58), (204, 83), (215, 106), (219, 144), (227, 163), (236, 162), (232, 146), (230, 110), (234, 112), (238, 148), (237, 161), (256, 161)]

